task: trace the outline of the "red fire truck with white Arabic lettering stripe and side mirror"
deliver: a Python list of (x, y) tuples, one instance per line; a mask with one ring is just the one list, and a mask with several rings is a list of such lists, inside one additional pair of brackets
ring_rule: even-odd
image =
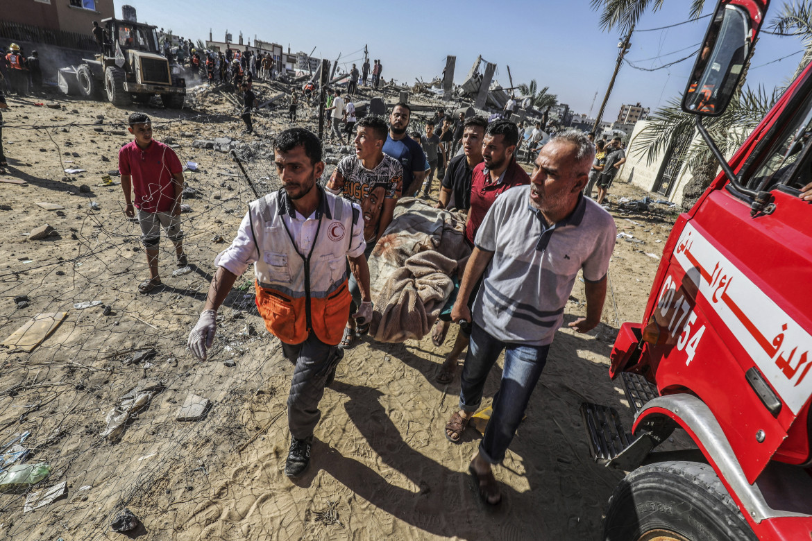
[(628, 472), (607, 541), (812, 539), (812, 65), (730, 161), (702, 126), (735, 94), (767, 3), (719, 2), (685, 91), (722, 173), (676, 221), (642, 323), (615, 340), (631, 432), (581, 406), (595, 459)]

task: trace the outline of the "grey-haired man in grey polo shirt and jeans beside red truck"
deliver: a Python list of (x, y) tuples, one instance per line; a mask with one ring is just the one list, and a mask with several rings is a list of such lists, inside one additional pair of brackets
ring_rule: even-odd
[[(503, 461), (525, 414), (579, 272), (585, 281), (586, 317), (568, 326), (586, 333), (601, 320), (616, 228), (611, 215), (581, 193), (593, 158), (594, 145), (574, 130), (542, 148), (531, 185), (508, 190), (482, 221), (451, 309), (453, 320), (472, 327), (459, 410), (443, 431), (452, 443), (460, 441), (479, 409), (486, 379), (505, 350), (493, 412), (469, 463), (486, 505), (502, 500), (492, 467)], [(471, 310), (469, 298), (477, 281), (482, 287)]]

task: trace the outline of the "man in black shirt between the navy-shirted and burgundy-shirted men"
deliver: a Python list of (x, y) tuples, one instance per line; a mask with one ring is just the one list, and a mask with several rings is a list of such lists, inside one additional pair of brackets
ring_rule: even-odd
[(463, 154), (448, 162), (443, 185), (440, 188), (440, 202), (435, 208), (459, 208), (468, 210), (471, 206), (471, 174), (473, 168), (482, 163), (482, 139), (488, 121), (482, 117), (466, 118), (463, 126)]

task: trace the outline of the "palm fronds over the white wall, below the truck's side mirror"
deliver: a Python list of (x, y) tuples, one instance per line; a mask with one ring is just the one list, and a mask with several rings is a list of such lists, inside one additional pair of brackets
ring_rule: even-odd
[[(778, 101), (781, 92), (783, 88), (774, 88), (772, 92), (767, 92), (764, 88), (755, 91), (749, 87), (740, 88), (723, 114), (703, 120), (702, 123), (723, 155), (729, 156), (744, 143), (758, 122), (761, 122)], [(691, 170), (693, 179), (683, 191), (682, 207), (685, 210), (693, 207), (699, 196), (711, 185), (716, 171), (719, 170), (719, 164), (711, 153), (711, 148), (707, 146), (705, 140), (694, 137), (695, 131), (696, 117), (684, 113), (680, 100), (675, 98), (649, 116), (646, 127), (633, 141), (633, 152), (638, 156), (645, 155), (646, 161), (650, 164), (666, 152), (673, 142), (692, 140), (685, 157), (672, 158), (685, 159)], [(629, 148), (632, 148), (631, 144)]]

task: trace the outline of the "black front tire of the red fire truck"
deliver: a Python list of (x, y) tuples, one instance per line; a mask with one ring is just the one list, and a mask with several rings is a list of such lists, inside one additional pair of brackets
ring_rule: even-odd
[(626, 475), (609, 499), (604, 541), (758, 538), (711, 466), (658, 462)]

